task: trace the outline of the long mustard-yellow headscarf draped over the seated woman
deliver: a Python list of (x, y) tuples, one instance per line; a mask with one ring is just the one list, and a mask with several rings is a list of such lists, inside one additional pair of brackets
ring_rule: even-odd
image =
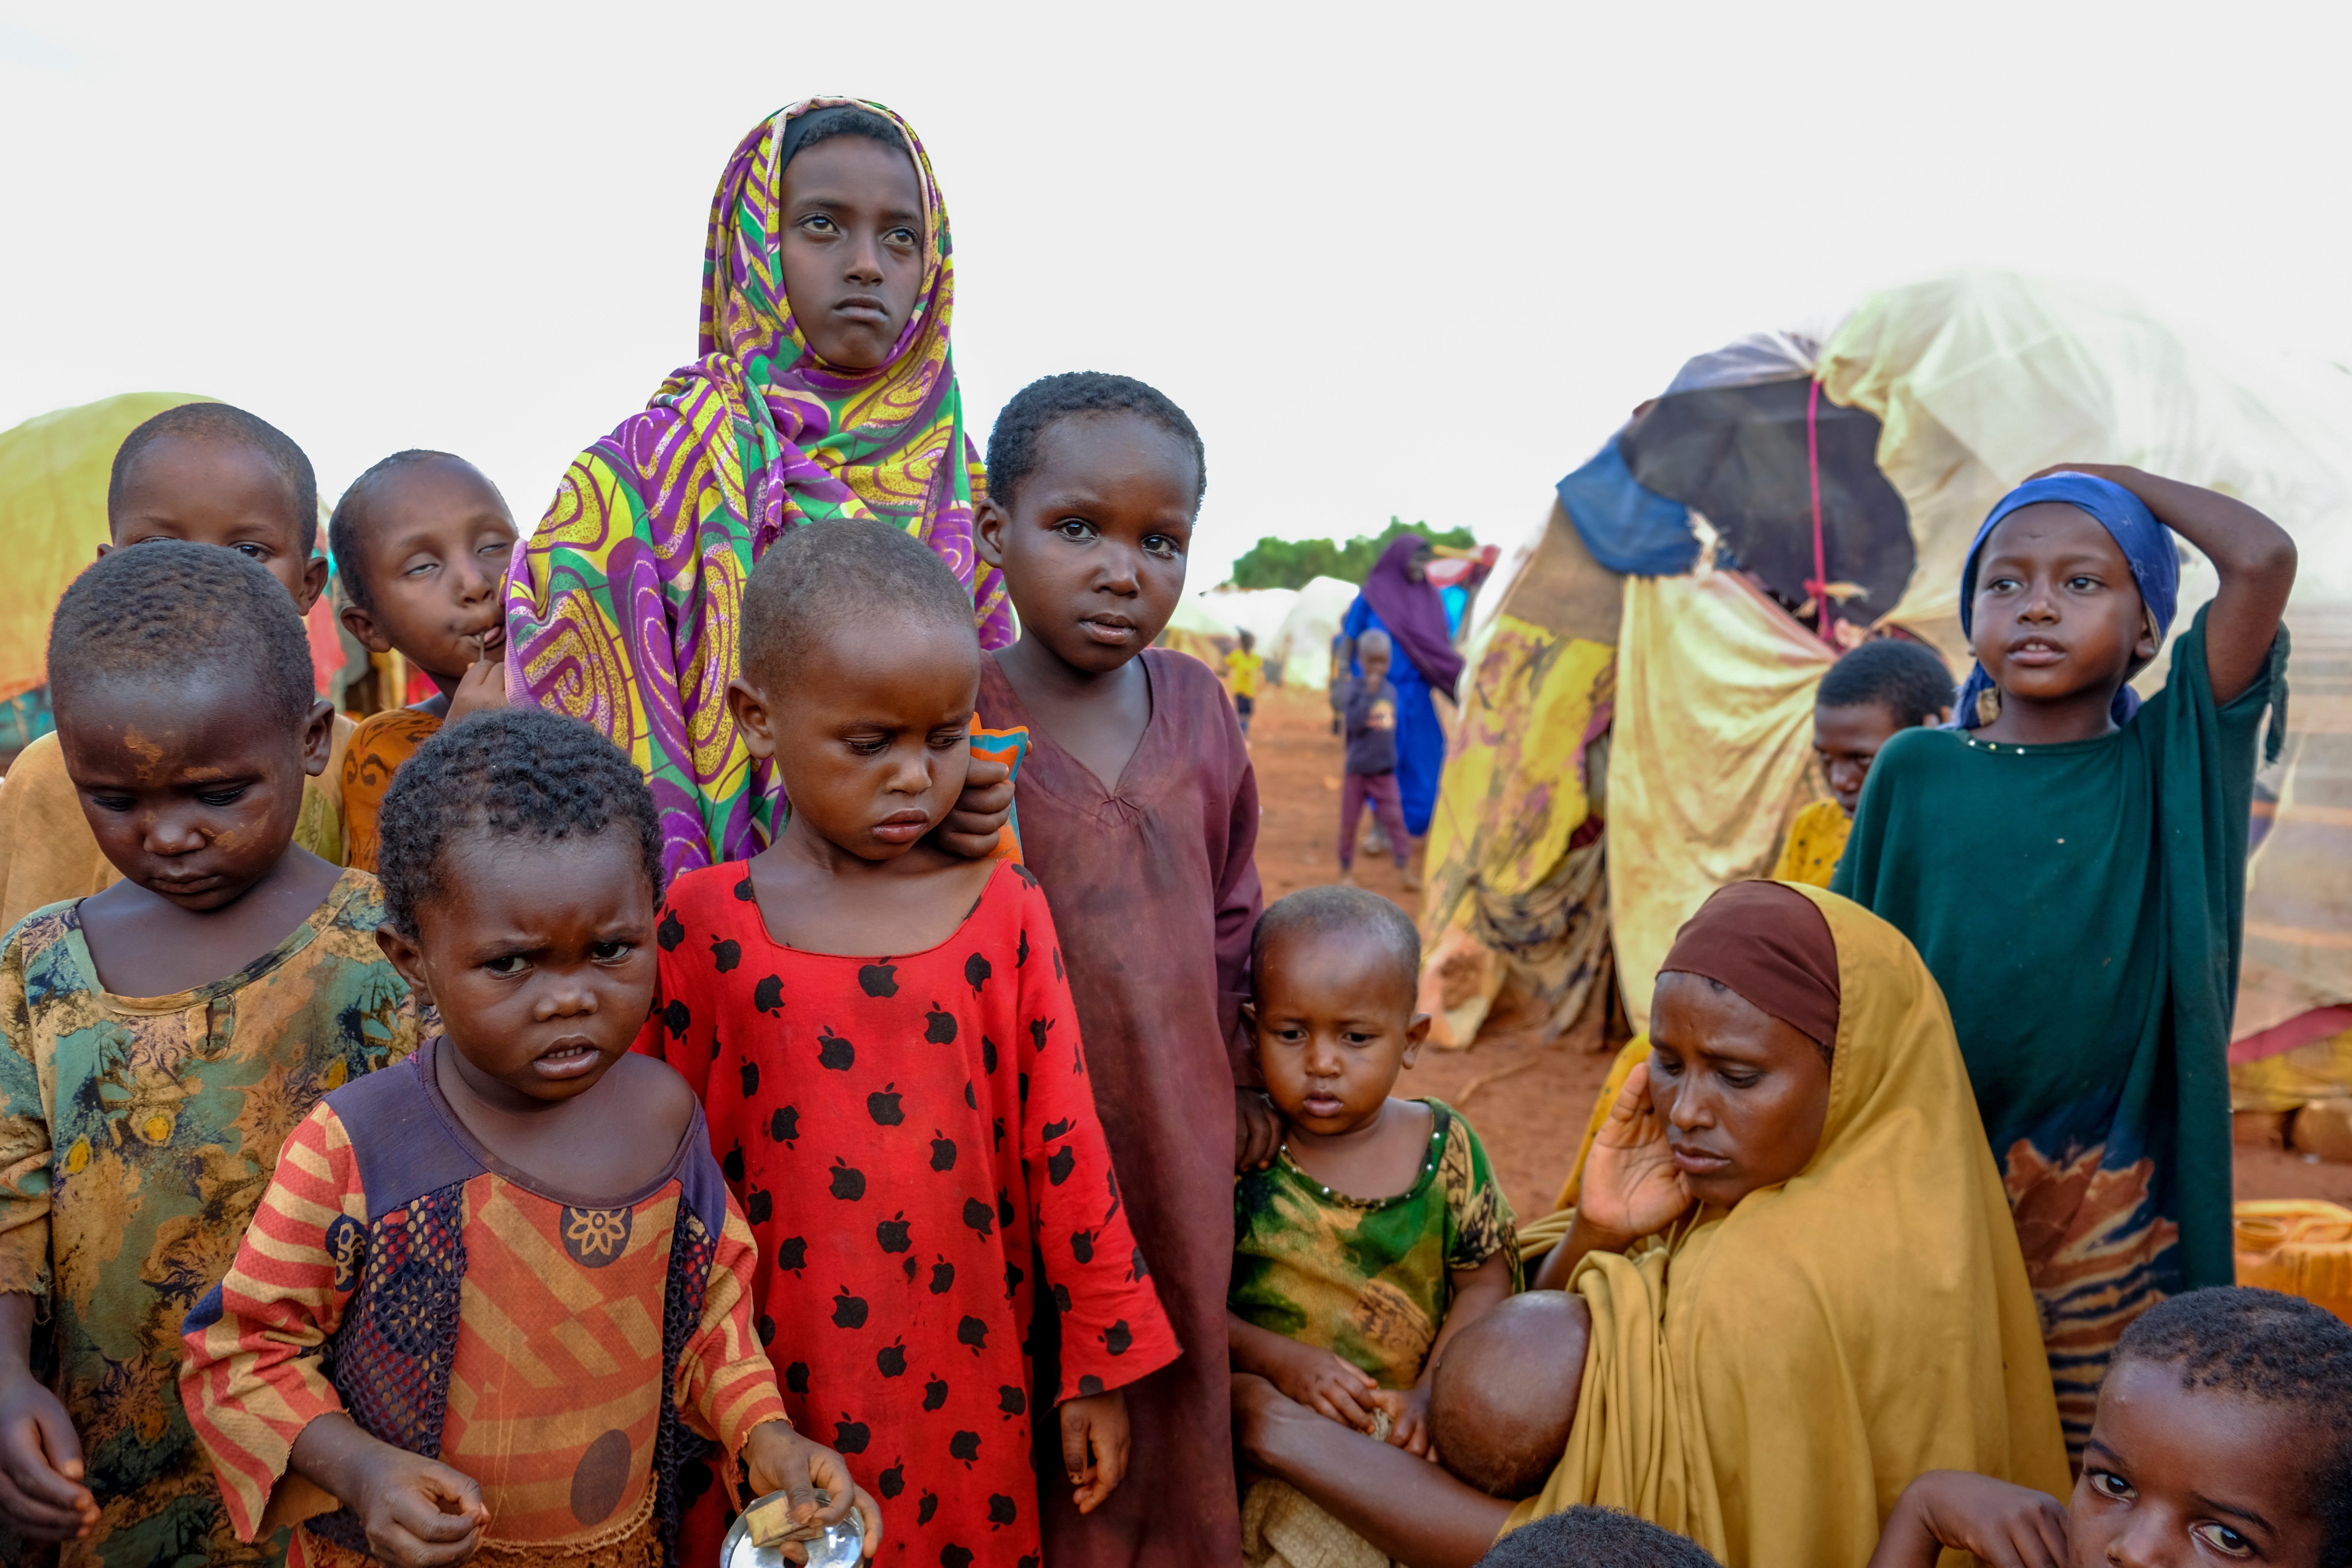
[(1508, 1528), (1599, 1502), (1729, 1568), (1863, 1568), (1924, 1469), (2070, 1490), (2025, 1260), (1943, 992), (1900, 931), (1797, 891), (1837, 940), (1820, 1147), (1668, 1244), (1578, 1262), (1583, 1401), (1559, 1469)]

